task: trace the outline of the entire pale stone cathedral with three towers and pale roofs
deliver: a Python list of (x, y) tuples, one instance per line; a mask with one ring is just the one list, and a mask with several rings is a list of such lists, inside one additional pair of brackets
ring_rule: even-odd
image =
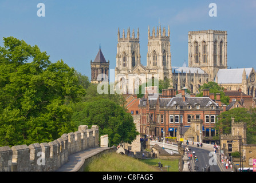
[[(227, 31), (189, 31), (188, 66), (185, 63), (172, 66), (170, 27), (166, 30), (159, 25), (156, 29), (153, 27), (152, 32), (148, 27), (146, 59), (147, 65), (141, 65), (139, 29), (136, 36), (134, 29), (128, 28), (126, 34), (123, 30), (122, 36), (118, 29), (115, 82), (122, 93), (136, 94), (139, 85), (157, 78), (168, 79), (176, 90), (186, 87), (191, 93), (198, 93), (201, 85), (214, 81), (227, 90), (241, 89), (256, 97), (254, 68), (228, 69)], [(92, 63), (91, 67), (93, 70)]]

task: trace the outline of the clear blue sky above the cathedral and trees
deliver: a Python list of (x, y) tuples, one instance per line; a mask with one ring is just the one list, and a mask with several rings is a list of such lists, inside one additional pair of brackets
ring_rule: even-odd
[[(210, 17), (210, 3), (217, 17)], [(38, 3), (45, 4), (45, 17), (38, 17)], [(0, 46), (13, 36), (38, 45), (50, 61), (63, 59), (90, 78), (90, 60), (101, 44), (110, 69), (116, 66), (118, 27), (127, 33), (140, 30), (141, 63), (146, 65), (148, 26), (170, 26), (172, 66), (188, 60), (188, 31), (227, 30), (227, 58), (231, 68), (256, 69), (256, 0), (202, 1), (85, 1), (0, 0)]]

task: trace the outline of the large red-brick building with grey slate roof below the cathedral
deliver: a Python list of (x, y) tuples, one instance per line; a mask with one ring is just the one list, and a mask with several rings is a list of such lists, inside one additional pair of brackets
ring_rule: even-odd
[[(204, 89), (203, 97), (195, 97), (195, 94), (186, 93), (185, 89), (176, 94), (175, 89), (164, 89), (162, 94), (146, 93), (139, 102), (140, 133), (163, 137), (176, 137), (177, 131), (190, 127), (191, 119), (198, 119), (202, 125), (202, 142), (211, 144), (216, 133), (216, 117), (225, 109), (220, 102), (220, 94), (209, 93)], [(200, 128), (200, 127), (199, 127)], [(181, 133), (181, 132), (179, 132)], [(199, 136), (190, 141), (199, 141)]]

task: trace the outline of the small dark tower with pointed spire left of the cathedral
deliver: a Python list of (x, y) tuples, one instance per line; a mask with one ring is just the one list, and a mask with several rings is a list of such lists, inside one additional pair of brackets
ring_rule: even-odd
[(101, 46), (99, 51), (92, 62), (90, 61), (90, 71), (91, 71), (91, 83), (99, 83), (101, 81), (109, 81), (109, 61), (105, 60), (105, 57), (101, 51)]

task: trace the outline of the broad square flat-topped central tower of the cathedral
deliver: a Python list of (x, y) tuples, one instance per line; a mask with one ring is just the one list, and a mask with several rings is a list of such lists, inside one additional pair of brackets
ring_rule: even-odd
[(227, 69), (227, 31), (189, 31), (188, 66), (200, 67), (214, 81), (219, 69)]

